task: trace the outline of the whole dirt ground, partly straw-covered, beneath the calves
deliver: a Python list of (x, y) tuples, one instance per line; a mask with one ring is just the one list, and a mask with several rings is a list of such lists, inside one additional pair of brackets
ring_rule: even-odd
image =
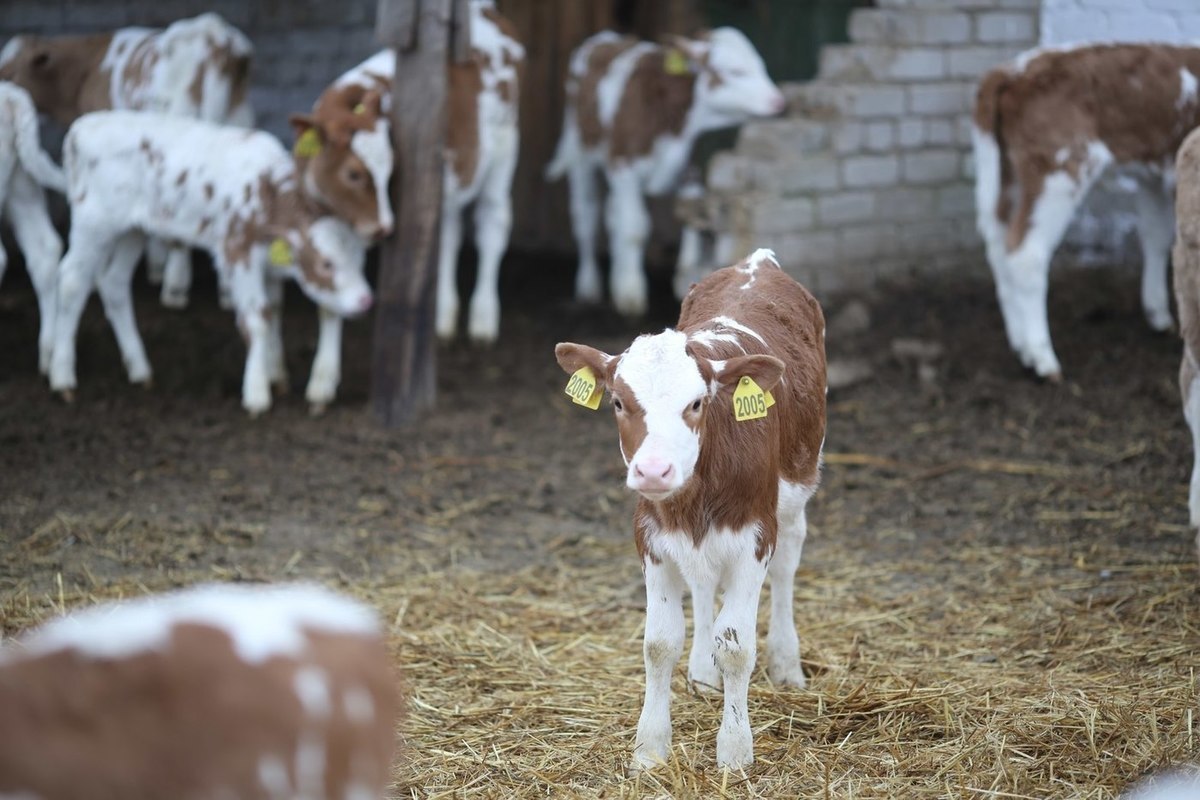
[[(308, 416), (314, 313), (295, 294), (292, 392), (247, 419), (241, 342), (206, 275), (184, 312), (138, 285), (150, 390), (125, 383), (94, 300), (65, 405), (10, 270), (0, 633), (203, 579), (353, 591), (389, 621), (410, 692), (397, 796), (1110, 798), (1200, 757), (1180, 343), (1144, 324), (1135, 275), (1056, 276), (1063, 385), (1010, 355), (982, 264), (858, 295), (870, 325), (832, 327), (829, 355), (874, 372), (830, 393), (797, 579), (810, 688), (756, 675), (758, 760), (730, 778), (713, 768), (719, 702), (684, 694), (680, 668), (678, 763), (626, 778), (632, 498), (608, 413), (570, 404), (553, 345), (620, 350), (676, 307), (660, 279), (630, 323), (571, 303), (569, 264), (510, 261), (500, 344), (443, 348), (438, 409), (407, 431), (366, 408), (371, 320), (347, 327), (337, 403)], [(896, 338), (944, 348), (932, 380)]]

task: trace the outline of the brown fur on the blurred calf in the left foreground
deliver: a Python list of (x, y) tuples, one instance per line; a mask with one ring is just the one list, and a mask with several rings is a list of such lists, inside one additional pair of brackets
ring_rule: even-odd
[[(386, 649), (377, 638), (307, 632), (299, 657), (245, 662), (224, 631), (176, 624), (169, 643), (122, 658), (73, 650), (0, 662), (0, 794), (56, 800), (268, 796), (259, 759), (277, 757), (296, 783), (301, 732), (325, 754), (324, 792), (388, 783), (400, 714)], [(330, 680), (331, 714), (306, 714), (299, 668)], [(362, 687), (376, 714), (348, 718), (343, 692)]]

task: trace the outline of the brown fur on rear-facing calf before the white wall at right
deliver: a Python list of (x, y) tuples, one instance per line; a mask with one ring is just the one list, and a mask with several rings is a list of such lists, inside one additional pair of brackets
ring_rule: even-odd
[[(1006, 66), (984, 76), (974, 124), (1001, 149), (996, 217), (1009, 225), (1010, 251), (1025, 239), (1045, 176), (1063, 169), (1076, 176), (1088, 143), (1104, 143), (1118, 164), (1171, 162), (1183, 137), (1200, 122), (1200, 103), (1177, 107), (1181, 68), (1200, 78), (1200, 48), (1098, 44), (1048, 50), (1021, 72)], [(1063, 163), (1060, 151), (1068, 154)]]

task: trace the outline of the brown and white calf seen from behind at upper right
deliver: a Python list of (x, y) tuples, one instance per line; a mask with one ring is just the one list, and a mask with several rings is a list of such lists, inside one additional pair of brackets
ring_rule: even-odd
[(1200, 48), (1096, 44), (1037, 49), (984, 76), (972, 131), (976, 212), (1008, 343), (1038, 375), (1060, 380), (1050, 343), (1050, 258), (1104, 173), (1136, 185), (1141, 302), (1171, 326), (1175, 154), (1200, 122)]

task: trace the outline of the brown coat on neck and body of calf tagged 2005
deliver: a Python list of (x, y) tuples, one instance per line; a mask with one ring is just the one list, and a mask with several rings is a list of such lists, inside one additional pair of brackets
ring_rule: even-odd
[[(691, 481), (664, 503), (638, 501), (635, 531), (638, 552), (646, 553), (643, 523), (683, 530), (698, 542), (712, 528), (744, 528), (761, 523), (758, 558), (776, 537), (779, 479), (816, 487), (826, 427), (824, 315), (816, 299), (774, 265), (762, 264), (750, 288), (749, 275), (737, 267), (718, 270), (684, 299), (677, 329), (733, 333), (712, 324), (728, 317), (766, 339), (739, 333), (742, 347), (730, 342), (689, 342), (700, 359), (727, 360), (745, 354), (769, 354), (785, 363), (784, 377), (772, 390), (775, 405), (766, 419), (738, 422), (733, 417), (733, 387), (709, 402), (701, 421), (701, 449)], [(697, 360), (706, 380), (708, 365)], [(632, 456), (632, 453), (630, 453)]]

